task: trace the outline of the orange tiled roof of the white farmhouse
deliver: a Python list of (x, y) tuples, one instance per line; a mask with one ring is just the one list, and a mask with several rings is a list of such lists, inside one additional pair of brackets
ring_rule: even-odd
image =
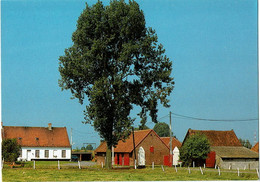
[(3, 138), (16, 138), (22, 147), (70, 147), (66, 127), (3, 126)]

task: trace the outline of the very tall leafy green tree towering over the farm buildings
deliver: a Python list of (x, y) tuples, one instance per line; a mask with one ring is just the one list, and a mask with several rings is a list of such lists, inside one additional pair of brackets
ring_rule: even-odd
[(158, 101), (169, 107), (172, 62), (135, 1), (86, 4), (72, 41), (59, 58), (59, 85), (81, 104), (88, 99), (84, 122), (106, 141), (111, 168), (112, 146), (131, 132), (133, 107), (139, 106), (142, 125), (147, 112), (157, 122)]

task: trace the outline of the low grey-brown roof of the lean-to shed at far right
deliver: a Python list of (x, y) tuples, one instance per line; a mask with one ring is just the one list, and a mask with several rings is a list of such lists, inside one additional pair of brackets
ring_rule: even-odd
[(221, 158), (259, 158), (258, 153), (246, 148), (239, 146), (214, 146), (210, 147), (211, 151), (215, 151), (216, 155)]

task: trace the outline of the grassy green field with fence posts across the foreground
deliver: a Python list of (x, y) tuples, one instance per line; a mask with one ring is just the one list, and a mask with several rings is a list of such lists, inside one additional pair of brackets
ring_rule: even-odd
[[(53, 164), (53, 167), (44, 165)], [(65, 164), (66, 162), (62, 162)], [(30, 163), (29, 163), (30, 164)], [(154, 170), (149, 166), (144, 169), (113, 169), (106, 170), (98, 166), (84, 169), (64, 168), (58, 170), (55, 165), (57, 162), (42, 163), (37, 169), (4, 167), (3, 181), (183, 181), (183, 180), (257, 180), (257, 174), (254, 170), (241, 171), (238, 176), (236, 171), (222, 171), (219, 176), (215, 169), (204, 169), (202, 175), (199, 168), (191, 169), (191, 174), (187, 168), (165, 167), (162, 171), (160, 166)], [(61, 164), (61, 165), (62, 165)], [(242, 173), (243, 172), (243, 173)], [(245, 173), (246, 172), (246, 173)]]

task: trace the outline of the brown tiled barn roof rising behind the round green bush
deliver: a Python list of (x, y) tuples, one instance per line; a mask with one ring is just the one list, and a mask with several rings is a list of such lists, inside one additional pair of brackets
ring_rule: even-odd
[(183, 143), (186, 138), (195, 133), (201, 133), (206, 135), (210, 142), (210, 146), (242, 146), (239, 142), (234, 130), (229, 131), (216, 131), (216, 130), (192, 130), (189, 129)]

